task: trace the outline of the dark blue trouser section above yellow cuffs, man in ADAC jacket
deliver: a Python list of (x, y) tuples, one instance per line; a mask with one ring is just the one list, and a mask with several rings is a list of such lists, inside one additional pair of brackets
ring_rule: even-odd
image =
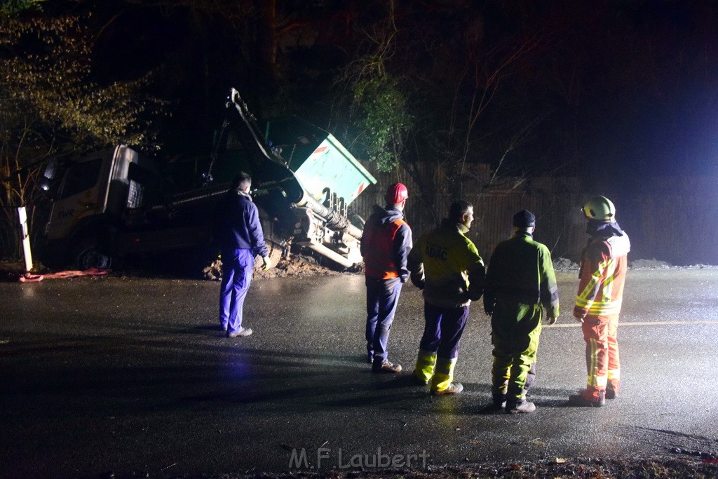
[(419, 349), (429, 353), (436, 351), (437, 358), (456, 358), (468, 317), (468, 306), (439, 307), (424, 302), (424, 335)]

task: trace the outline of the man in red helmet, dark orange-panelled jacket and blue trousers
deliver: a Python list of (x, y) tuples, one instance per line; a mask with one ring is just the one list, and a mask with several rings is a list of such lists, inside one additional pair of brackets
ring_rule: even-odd
[(401, 365), (388, 361), (386, 343), (394, 320), (401, 285), (409, 279), (406, 258), (411, 251), (411, 228), (404, 221), (409, 192), (401, 183), (386, 189), (386, 208), (374, 205), (364, 225), (360, 251), (366, 284), (367, 361), (375, 373), (399, 373)]

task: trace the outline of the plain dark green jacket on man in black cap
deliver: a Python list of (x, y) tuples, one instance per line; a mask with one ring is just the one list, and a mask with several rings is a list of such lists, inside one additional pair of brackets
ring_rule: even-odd
[(491, 315), (497, 299), (541, 304), (550, 317), (559, 316), (551, 252), (528, 233), (516, 233), (498, 243), (489, 261), (484, 287), (484, 309)]

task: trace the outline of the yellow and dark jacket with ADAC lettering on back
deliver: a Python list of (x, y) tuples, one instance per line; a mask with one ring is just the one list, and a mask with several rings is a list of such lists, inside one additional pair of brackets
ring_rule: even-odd
[(480, 299), (484, 261), (468, 228), (447, 220), (425, 233), (409, 253), (411, 282), (424, 289), (424, 300), (439, 307), (462, 307)]

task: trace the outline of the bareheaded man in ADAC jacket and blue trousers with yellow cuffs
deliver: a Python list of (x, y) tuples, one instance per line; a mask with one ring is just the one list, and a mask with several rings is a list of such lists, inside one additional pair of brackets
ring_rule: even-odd
[(452, 203), (449, 218), (419, 238), (409, 253), (411, 282), (424, 290), (424, 335), (414, 377), (431, 381), (433, 394), (457, 394), (452, 383), (469, 304), (480, 299), (485, 268), (474, 243), (465, 236), (474, 219), (466, 201)]

